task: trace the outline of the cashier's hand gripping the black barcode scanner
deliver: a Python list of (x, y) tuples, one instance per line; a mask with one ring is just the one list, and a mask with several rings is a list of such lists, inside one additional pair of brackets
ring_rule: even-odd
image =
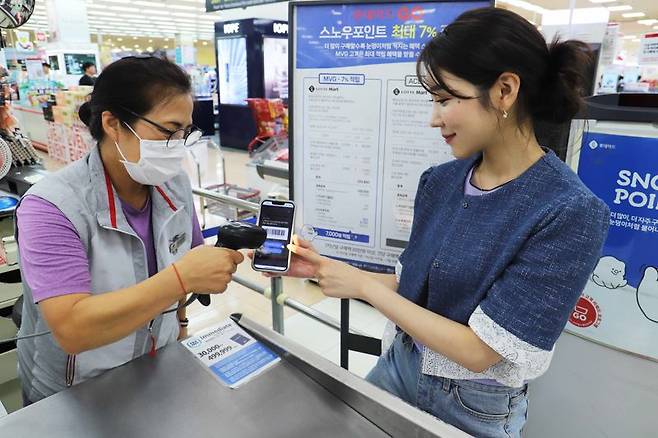
[(175, 263), (185, 293), (218, 294), (226, 290), (244, 256), (227, 248), (201, 245)]

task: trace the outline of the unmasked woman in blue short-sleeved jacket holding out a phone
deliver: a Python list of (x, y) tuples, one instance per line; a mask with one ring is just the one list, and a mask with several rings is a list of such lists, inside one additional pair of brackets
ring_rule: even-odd
[(547, 46), (512, 12), (464, 13), (418, 61), (431, 126), (457, 160), (422, 174), (398, 275), (290, 246), (290, 275), (397, 325), (367, 379), (474, 436), (520, 436), (527, 384), (548, 368), (607, 233), (605, 204), (534, 131), (576, 114), (589, 56), (576, 41)]

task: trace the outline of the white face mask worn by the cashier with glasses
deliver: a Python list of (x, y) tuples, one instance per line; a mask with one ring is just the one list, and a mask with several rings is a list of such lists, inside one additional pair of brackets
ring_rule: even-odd
[(133, 181), (149, 186), (159, 186), (178, 175), (183, 169), (185, 158), (184, 140), (144, 140), (128, 125), (125, 125), (139, 138), (139, 161), (133, 163), (121, 152), (119, 143), (114, 144), (121, 155), (121, 162), (126, 166)]

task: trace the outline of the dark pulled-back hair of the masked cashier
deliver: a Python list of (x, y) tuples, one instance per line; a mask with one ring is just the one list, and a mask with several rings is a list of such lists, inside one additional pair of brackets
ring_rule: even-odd
[(80, 107), (80, 120), (96, 141), (103, 139), (102, 114), (110, 111), (130, 124), (158, 103), (191, 93), (190, 78), (176, 64), (155, 57), (128, 57), (113, 62), (96, 79), (89, 101)]

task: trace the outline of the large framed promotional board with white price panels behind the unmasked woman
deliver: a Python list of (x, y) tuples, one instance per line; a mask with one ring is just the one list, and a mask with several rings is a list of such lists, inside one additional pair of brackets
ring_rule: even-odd
[(421, 173), (452, 160), (416, 77), (425, 44), (490, 2), (295, 3), (292, 195), (322, 254), (392, 272)]

